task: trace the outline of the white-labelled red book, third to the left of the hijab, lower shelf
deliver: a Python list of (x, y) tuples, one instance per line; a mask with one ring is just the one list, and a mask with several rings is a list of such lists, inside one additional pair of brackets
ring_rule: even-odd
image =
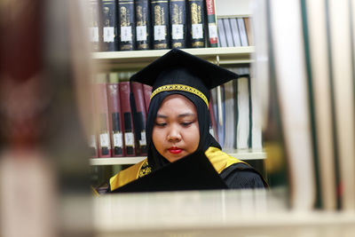
[(118, 74), (109, 74), (107, 83), (108, 117), (110, 122), (110, 138), (112, 156), (123, 156), (123, 126), (120, 103)]

